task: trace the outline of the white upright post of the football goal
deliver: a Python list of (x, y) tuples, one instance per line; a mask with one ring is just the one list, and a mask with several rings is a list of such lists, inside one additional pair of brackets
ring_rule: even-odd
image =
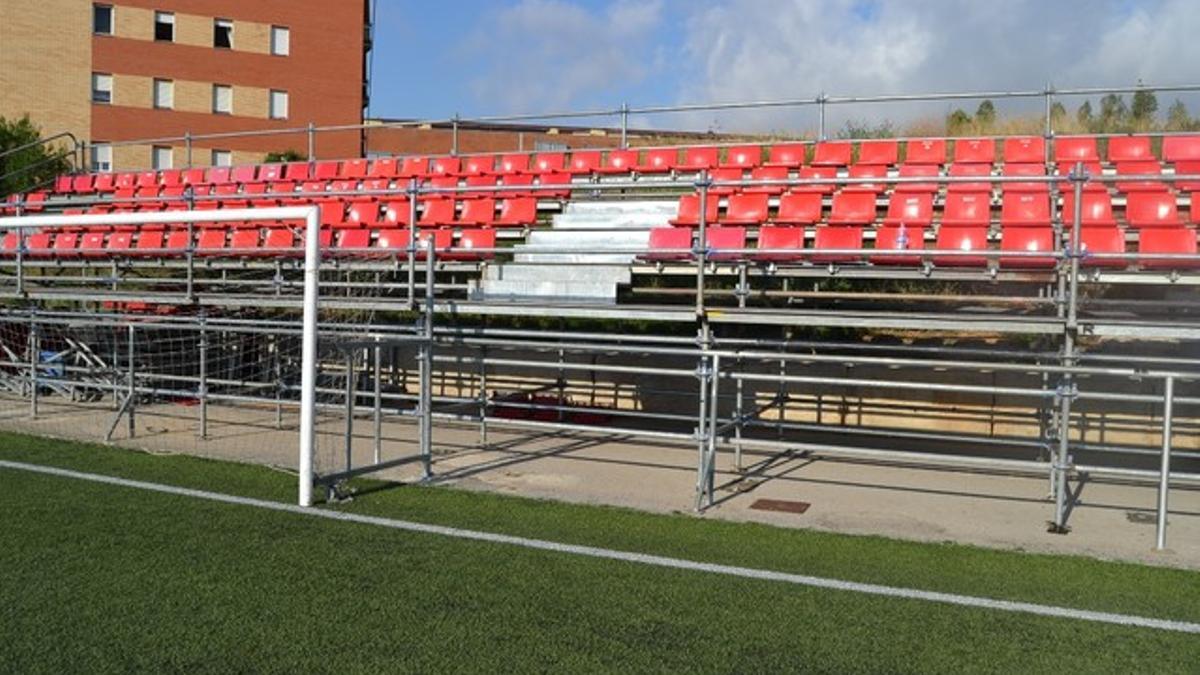
[(312, 506), (312, 455), (317, 441), (317, 309), (320, 281), (320, 211), (305, 219), (304, 328), (300, 344), (300, 506)]

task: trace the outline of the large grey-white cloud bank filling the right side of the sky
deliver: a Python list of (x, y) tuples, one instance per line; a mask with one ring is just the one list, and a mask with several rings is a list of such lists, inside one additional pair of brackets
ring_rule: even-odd
[[(686, 102), (1181, 83), (1200, 58), (1194, 0), (724, 0), (686, 23)], [(1194, 78), (1193, 78), (1194, 79)], [(1166, 95), (1170, 97), (1170, 95)], [(902, 120), (955, 104), (830, 108)], [(1003, 106), (1003, 103), (998, 103)], [(1038, 108), (1040, 101), (1024, 103)], [(1014, 103), (1021, 107), (1021, 103)], [(1163, 103), (1165, 108), (1165, 102)], [(1002, 107), (1003, 109), (1003, 107)], [(706, 117), (707, 115), (707, 117)], [(706, 113), (694, 125), (811, 129), (815, 109)]]

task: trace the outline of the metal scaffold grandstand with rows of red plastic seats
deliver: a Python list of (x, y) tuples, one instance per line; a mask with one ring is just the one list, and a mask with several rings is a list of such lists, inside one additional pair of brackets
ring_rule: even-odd
[[(1054, 132), (1054, 96), (1106, 91), (924, 98), (1044, 96), (1043, 136), (61, 177), (0, 219), (5, 425), (299, 429), (304, 503), (430, 474), (437, 424), (692, 444), (698, 509), (719, 461), (778, 453), (1045, 474), (1063, 532), (1072, 482), (1152, 480), (1165, 545), (1200, 479), (1200, 136)], [(617, 113), (888, 100), (923, 98)]]

